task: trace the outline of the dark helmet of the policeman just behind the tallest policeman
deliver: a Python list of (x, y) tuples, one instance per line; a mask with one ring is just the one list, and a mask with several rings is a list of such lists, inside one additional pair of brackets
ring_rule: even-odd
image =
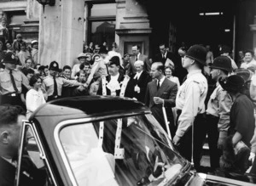
[(210, 66), (210, 68), (226, 70), (228, 72), (231, 72), (232, 71), (231, 59), (226, 56), (218, 56), (213, 60), (213, 63)]

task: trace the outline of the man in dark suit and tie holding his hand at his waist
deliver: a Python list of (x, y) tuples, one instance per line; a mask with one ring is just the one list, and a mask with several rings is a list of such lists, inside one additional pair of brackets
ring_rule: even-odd
[(175, 126), (172, 115), (172, 107), (175, 107), (177, 84), (168, 80), (165, 75), (165, 66), (161, 62), (154, 62), (151, 66), (153, 82), (148, 82), (145, 96), (145, 104), (152, 111), (153, 116), (160, 125), (167, 131), (162, 106), (166, 108), (167, 120), (170, 123), (172, 137), (175, 134)]

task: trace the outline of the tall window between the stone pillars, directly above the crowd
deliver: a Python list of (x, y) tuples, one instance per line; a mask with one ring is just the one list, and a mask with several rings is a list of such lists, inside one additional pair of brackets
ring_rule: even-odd
[(115, 36), (116, 3), (92, 4), (89, 9), (88, 43), (102, 46), (107, 42), (111, 48)]

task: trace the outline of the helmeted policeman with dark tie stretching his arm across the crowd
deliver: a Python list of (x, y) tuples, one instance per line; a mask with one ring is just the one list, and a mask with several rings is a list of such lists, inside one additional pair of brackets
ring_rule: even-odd
[(46, 90), (48, 94), (47, 101), (53, 99), (60, 99), (62, 87), (73, 87), (73, 86), (83, 86), (81, 82), (75, 80), (66, 80), (61, 76), (57, 76), (59, 69), (59, 64), (56, 61), (52, 61), (49, 64), (49, 76), (46, 76), (43, 81), (42, 87)]

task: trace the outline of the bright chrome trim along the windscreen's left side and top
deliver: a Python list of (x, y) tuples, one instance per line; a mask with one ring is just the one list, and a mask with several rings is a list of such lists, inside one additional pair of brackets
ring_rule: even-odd
[(127, 116), (141, 116), (141, 115), (147, 115), (150, 114), (150, 111), (142, 111), (139, 113), (129, 113), (129, 114), (124, 114), (122, 116), (120, 116), (119, 114), (113, 114), (110, 116), (97, 116), (97, 117), (89, 117), (89, 118), (82, 118), (82, 119), (71, 119), (71, 120), (67, 120), (67, 121), (61, 121), (59, 124), (56, 125), (55, 130), (54, 130), (54, 138), (55, 138), (55, 143), (56, 146), (61, 154), (61, 159), (64, 162), (64, 166), (67, 169), (67, 174), (71, 180), (71, 183), (74, 186), (78, 186), (78, 183), (76, 181), (76, 178), (73, 175), (73, 170), (69, 164), (69, 161), (67, 160), (67, 155), (62, 147), (61, 144), (61, 139), (59, 138), (59, 134), (61, 132), (61, 129), (65, 126), (69, 126), (69, 125), (73, 125), (73, 124), (79, 124), (79, 123), (88, 123), (90, 121), (102, 121), (102, 120), (108, 120), (108, 119), (112, 119), (112, 118), (117, 118), (117, 117), (127, 117)]

